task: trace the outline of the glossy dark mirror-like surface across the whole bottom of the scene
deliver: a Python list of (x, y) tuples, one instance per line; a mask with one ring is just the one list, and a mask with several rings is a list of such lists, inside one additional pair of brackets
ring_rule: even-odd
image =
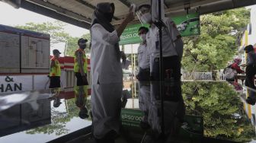
[(237, 83), (189, 81), (5, 94), (0, 142), (51, 141), (91, 123), (92, 135), (83, 141), (253, 142), (255, 106), (248, 103), (255, 96)]

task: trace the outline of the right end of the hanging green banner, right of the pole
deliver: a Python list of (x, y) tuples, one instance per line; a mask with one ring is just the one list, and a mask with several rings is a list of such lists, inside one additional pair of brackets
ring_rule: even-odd
[(178, 17), (171, 17), (181, 33), (181, 37), (200, 35), (199, 13), (187, 14)]

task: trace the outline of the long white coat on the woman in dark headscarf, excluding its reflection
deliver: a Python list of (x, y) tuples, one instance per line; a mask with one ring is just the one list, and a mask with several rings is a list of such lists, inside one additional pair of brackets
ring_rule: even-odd
[(122, 66), (115, 49), (118, 41), (117, 30), (110, 33), (101, 24), (91, 27), (91, 84), (123, 81)]

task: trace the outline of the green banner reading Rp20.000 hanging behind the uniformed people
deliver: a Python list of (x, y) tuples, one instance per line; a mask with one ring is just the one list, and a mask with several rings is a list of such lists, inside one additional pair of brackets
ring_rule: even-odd
[[(181, 33), (181, 37), (200, 35), (200, 15), (199, 13), (187, 14), (178, 17), (171, 17)], [(149, 25), (143, 25), (149, 27)], [(138, 30), (142, 24), (133, 24), (126, 27), (120, 37), (120, 45), (141, 43)]]

